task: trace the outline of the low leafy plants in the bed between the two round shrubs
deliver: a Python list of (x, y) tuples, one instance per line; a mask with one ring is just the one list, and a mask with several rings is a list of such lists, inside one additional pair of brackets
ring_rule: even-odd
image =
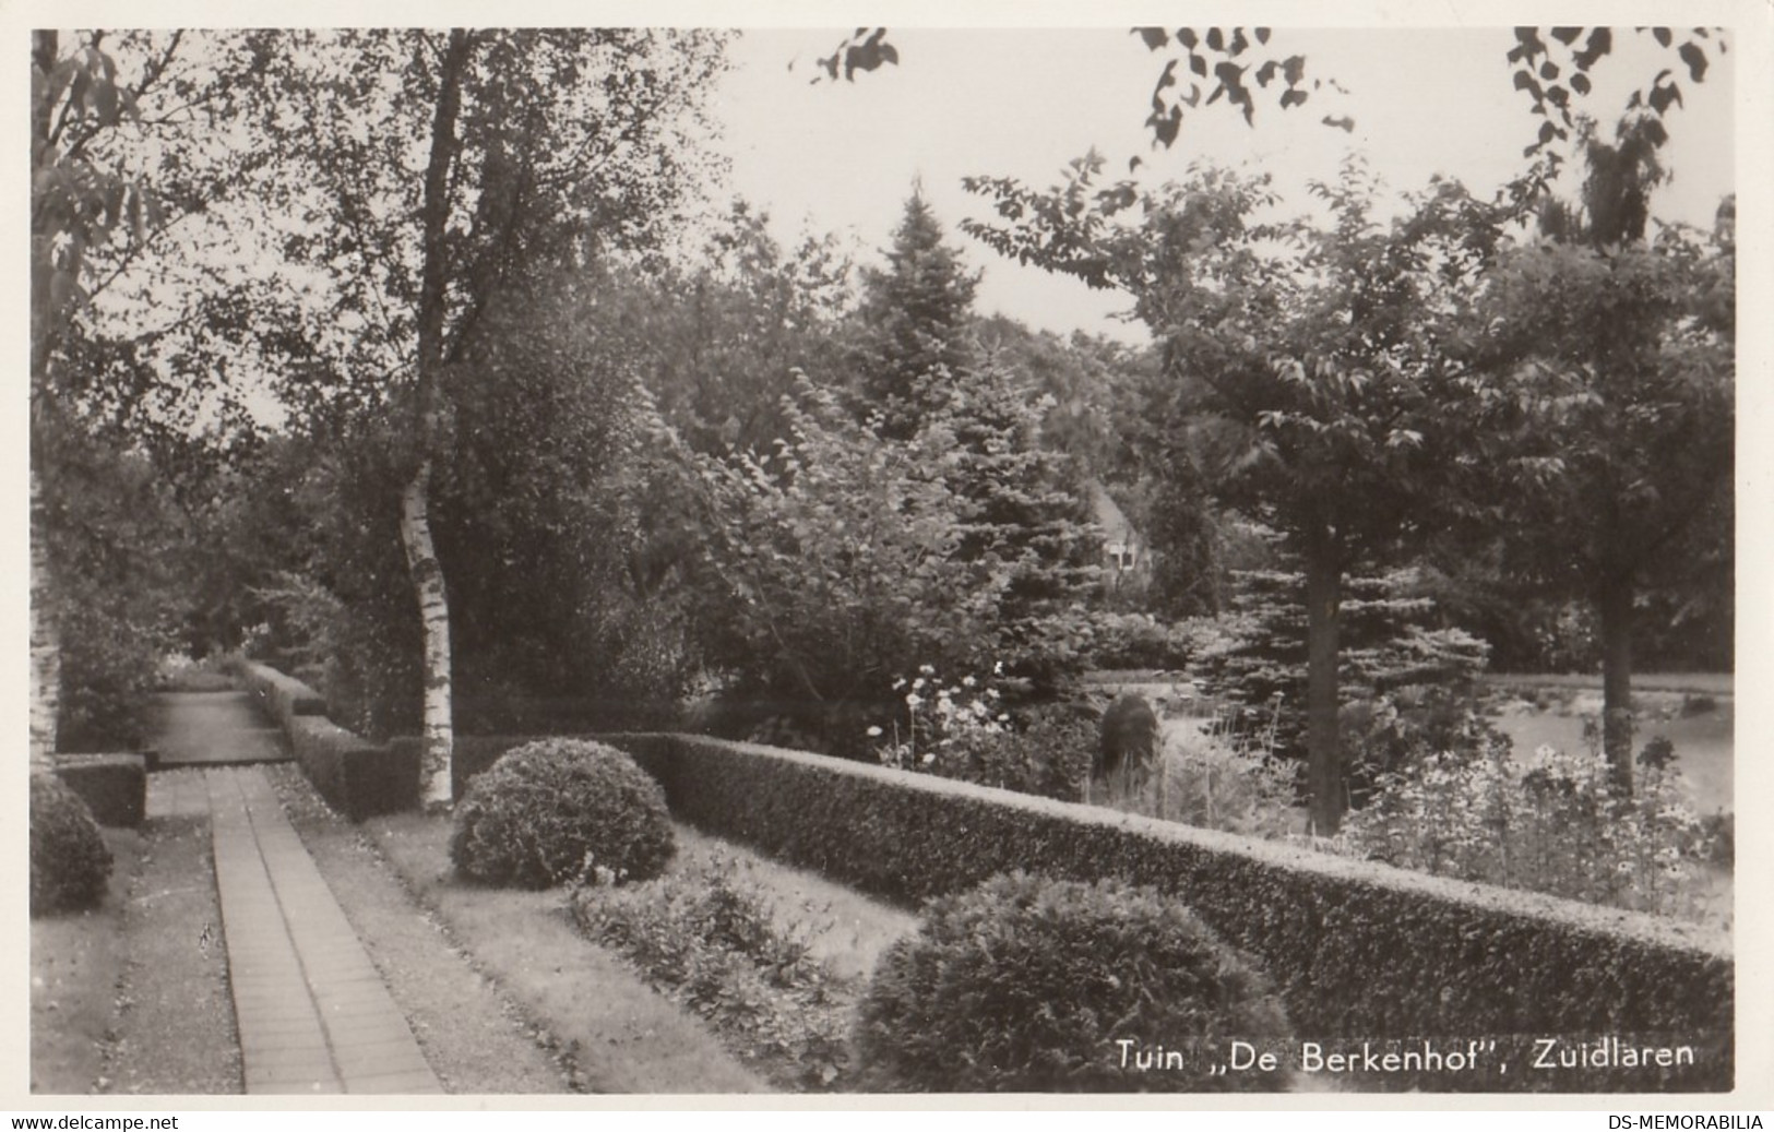
[(734, 1038), (777, 1084), (837, 1084), (855, 988), (811, 955), (812, 924), (779, 924), (740, 862), (713, 855), (623, 887), (594, 880), (568, 905), (587, 937)]

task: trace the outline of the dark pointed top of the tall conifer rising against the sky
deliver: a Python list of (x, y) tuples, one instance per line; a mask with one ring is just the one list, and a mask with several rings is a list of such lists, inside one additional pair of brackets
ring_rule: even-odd
[(914, 186), (892, 234), (885, 270), (864, 270), (857, 311), (857, 397), (862, 417), (905, 440), (940, 403), (946, 381), (976, 360), (970, 334), (979, 275), (962, 266), (942, 225)]

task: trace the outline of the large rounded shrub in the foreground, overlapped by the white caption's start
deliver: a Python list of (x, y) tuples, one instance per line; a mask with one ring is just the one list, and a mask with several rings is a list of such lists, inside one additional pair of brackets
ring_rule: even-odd
[(1174, 898), (1011, 873), (931, 901), (887, 949), (857, 1049), (883, 1089), (1221, 1091), (1281, 1088), (1210, 1070), (1286, 1033), (1268, 979)]

